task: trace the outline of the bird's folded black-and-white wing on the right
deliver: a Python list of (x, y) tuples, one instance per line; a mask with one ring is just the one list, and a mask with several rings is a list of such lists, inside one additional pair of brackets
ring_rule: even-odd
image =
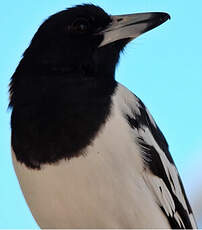
[[(128, 95), (129, 96), (129, 95)], [(125, 95), (122, 110), (144, 161), (144, 179), (172, 228), (197, 228), (168, 144), (147, 108), (135, 95)]]

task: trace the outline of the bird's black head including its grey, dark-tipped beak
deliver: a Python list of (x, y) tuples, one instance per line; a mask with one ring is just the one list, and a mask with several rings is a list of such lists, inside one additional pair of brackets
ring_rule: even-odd
[(30, 61), (33, 71), (113, 76), (124, 46), (168, 18), (166, 13), (111, 16), (98, 6), (78, 5), (49, 17), (24, 59)]

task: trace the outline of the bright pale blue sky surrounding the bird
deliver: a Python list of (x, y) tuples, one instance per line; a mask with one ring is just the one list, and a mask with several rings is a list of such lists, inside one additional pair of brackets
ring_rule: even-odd
[[(20, 191), (10, 155), (8, 84), (21, 55), (49, 15), (70, 0), (2, 1), (0, 8), (0, 228), (38, 228)], [(110, 14), (164, 11), (171, 20), (137, 38), (121, 56), (116, 79), (149, 108), (170, 145), (202, 228), (202, 1), (87, 1)]]

